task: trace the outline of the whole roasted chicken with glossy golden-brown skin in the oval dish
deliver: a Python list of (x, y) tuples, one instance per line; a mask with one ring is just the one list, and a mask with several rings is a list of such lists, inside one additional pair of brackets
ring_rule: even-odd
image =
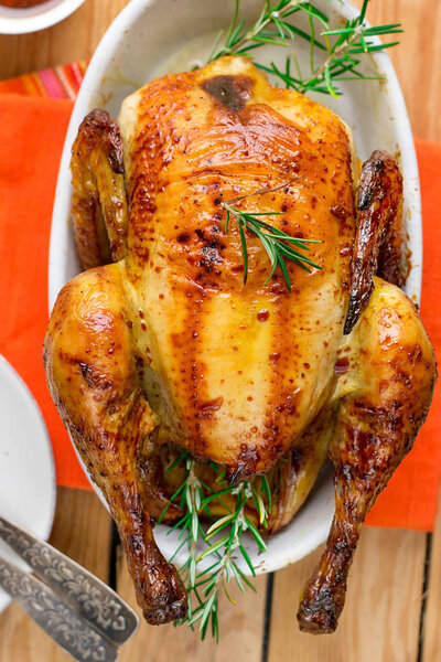
[[(72, 173), (87, 270), (57, 298), (44, 362), (146, 619), (186, 612), (152, 532), (170, 503), (164, 449), (224, 467), (230, 483), (268, 473), (271, 532), (292, 519), (329, 453), (335, 516), (298, 619), (333, 631), (366, 513), (410, 450), (437, 375), (399, 289), (395, 159), (375, 151), (359, 168), (336, 115), (223, 57), (132, 94), (119, 127), (90, 113)], [(268, 279), (262, 242), (232, 221), (225, 232), (232, 205), (273, 213), (272, 234), (318, 242), (315, 266), (287, 258)], [(171, 505), (168, 520), (179, 516)]]

